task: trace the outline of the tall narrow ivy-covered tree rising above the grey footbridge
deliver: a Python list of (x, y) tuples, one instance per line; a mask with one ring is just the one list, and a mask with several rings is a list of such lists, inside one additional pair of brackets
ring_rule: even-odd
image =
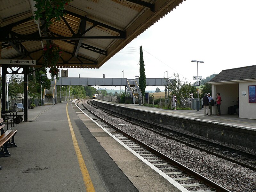
[(140, 77), (139, 77), (139, 87), (141, 90), (142, 97), (145, 97), (146, 89), (146, 74), (145, 74), (145, 65), (143, 59), (142, 46), (140, 46)]

